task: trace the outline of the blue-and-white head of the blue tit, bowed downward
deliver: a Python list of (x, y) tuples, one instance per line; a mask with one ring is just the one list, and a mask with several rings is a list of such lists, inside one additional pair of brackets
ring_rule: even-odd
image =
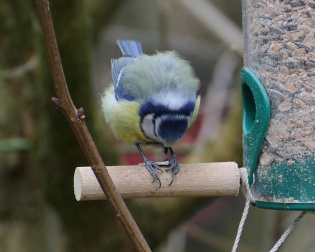
[(171, 147), (189, 128), (196, 104), (195, 93), (160, 93), (140, 107), (140, 127), (146, 137)]

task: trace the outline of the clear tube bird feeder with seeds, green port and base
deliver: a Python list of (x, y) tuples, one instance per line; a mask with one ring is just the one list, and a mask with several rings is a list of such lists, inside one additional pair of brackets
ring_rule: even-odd
[(259, 208), (315, 210), (315, 3), (243, 0), (243, 161)]

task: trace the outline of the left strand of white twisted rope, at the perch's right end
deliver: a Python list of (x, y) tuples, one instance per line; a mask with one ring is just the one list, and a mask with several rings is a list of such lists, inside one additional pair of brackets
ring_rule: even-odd
[(245, 202), (245, 208), (244, 208), (244, 211), (243, 211), (243, 215), (242, 215), (240, 224), (238, 226), (238, 230), (237, 230), (237, 234), (236, 234), (236, 238), (235, 238), (235, 242), (234, 242), (234, 245), (233, 245), (232, 252), (236, 252), (238, 244), (240, 242), (242, 231), (243, 231), (243, 227), (244, 227), (245, 221), (247, 219), (247, 215), (248, 215), (249, 210), (250, 210), (251, 201), (255, 202), (255, 200), (252, 197), (250, 184), (248, 182), (247, 169), (246, 168), (240, 168), (240, 173), (241, 173), (241, 190), (242, 190), (242, 192), (243, 192), (243, 194), (244, 194), (244, 196), (246, 198), (246, 202)]

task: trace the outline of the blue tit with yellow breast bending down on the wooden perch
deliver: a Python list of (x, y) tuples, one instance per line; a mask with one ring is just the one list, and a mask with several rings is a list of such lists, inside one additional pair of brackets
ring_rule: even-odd
[(101, 98), (105, 121), (117, 139), (135, 144), (145, 166), (158, 180), (158, 164), (146, 157), (140, 144), (158, 143), (167, 154), (171, 185), (180, 170), (172, 146), (194, 123), (200, 104), (200, 81), (190, 64), (174, 51), (143, 54), (134, 40), (117, 40), (123, 57), (111, 60), (113, 85)]

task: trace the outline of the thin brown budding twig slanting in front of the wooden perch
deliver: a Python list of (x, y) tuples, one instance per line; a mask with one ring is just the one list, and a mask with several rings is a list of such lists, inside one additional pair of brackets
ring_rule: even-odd
[(108, 198), (117, 218), (125, 228), (133, 246), (137, 251), (150, 252), (151, 250), (146, 240), (128, 211), (125, 202), (117, 192), (114, 183), (109, 176), (107, 168), (96, 149), (95, 143), (93, 142), (90, 132), (83, 120), (84, 110), (82, 108), (77, 110), (69, 95), (57, 47), (48, 0), (36, 0), (36, 6), (44, 37), (50, 71), (58, 97), (52, 98), (51, 101), (62, 110), (63, 115), (70, 124), (90, 166), (93, 169), (100, 187)]

